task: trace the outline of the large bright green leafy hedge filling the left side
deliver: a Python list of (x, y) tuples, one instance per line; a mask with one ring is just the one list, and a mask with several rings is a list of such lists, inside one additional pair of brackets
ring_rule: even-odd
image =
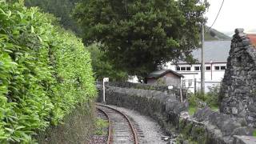
[(52, 22), (0, 0), (0, 143), (33, 142), (96, 94), (82, 40)]

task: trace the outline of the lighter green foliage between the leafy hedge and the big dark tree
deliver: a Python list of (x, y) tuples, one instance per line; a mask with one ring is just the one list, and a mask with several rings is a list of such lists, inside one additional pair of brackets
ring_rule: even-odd
[(92, 66), (94, 77), (99, 81), (103, 78), (110, 78), (110, 81), (125, 81), (128, 79), (128, 74), (122, 70), (115, 68), (105, 57), (104, 52), (98, 49), (98, 45), (94, 44), (88, 47), (92, 58)]

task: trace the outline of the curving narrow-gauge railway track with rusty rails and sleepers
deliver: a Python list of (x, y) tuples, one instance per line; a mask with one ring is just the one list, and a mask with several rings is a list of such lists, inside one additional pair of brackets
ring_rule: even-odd
[(107, 144), (134, 143), (138, 144), (138, 135), (126, 114), (110, 106), (97, 103), (96, 107), (106, 115), (109, 121)]

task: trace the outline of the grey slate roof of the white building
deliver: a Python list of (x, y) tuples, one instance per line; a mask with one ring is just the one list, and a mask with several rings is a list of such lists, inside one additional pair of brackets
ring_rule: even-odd
[[(227, 62), (230, 52), (230, 41), (210, 41), (205, 42), (205, 62)], [(194, 58), (201, 62), (201, 49), (192, 52)], [(187, 62), (178, 62), (187, 63)]]

